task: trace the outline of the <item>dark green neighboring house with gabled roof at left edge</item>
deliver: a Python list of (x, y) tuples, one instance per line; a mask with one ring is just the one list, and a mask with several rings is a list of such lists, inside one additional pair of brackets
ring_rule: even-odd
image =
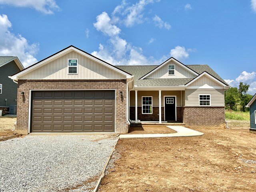
[(2, 110), (2, 114), (6, 114), (10, 106), (17, 105), (18, 84), (8, 76), (23, 69), (24, 67), (18, 57), (0, 56), (0, 110)]

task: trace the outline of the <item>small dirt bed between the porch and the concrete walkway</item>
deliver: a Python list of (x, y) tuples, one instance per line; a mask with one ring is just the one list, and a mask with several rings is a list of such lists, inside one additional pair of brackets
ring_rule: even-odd
[(130, 127), (128, 134), (170, 134), (176, 133), (176, 131), (168, 128), (168, 127)]

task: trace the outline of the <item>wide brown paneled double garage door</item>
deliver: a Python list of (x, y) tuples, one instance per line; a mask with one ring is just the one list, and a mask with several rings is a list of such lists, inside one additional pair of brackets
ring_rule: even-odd
[(115, 92), (33, 91), (32, 132), (114, 132)]

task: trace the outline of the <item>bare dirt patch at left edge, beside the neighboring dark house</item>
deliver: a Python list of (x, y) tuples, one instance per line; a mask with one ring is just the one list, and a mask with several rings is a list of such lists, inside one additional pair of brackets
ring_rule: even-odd
[(0, 116), (0, 138), (16, 134), (16, 132), (12, 131), (15, 122), (15, 116)]

